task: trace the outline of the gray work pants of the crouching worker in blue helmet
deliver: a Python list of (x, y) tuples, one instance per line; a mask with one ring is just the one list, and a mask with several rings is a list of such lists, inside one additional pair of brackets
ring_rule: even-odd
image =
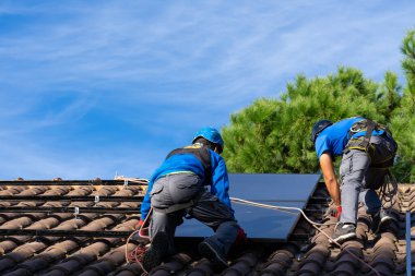
[[(194, 199), (195, 204), (186, 209), (168, 214), (156, 211)], [(205, 191), (203, 180), (197, 175), (175, 173), (156, 180), (151, 191), (151, 204), (155, 209), (150, 225), (150, 236), (154, 237), (158, 231), (165, 231), (169, 239), (170, 253), (174, 252), (173, 238), (176, 227), (182, 224), (185, 215), (200, 220), (215, 231), (208, 239), (224, 255), (236, 240), (239, 226), (229, 207), (210, 191)]]

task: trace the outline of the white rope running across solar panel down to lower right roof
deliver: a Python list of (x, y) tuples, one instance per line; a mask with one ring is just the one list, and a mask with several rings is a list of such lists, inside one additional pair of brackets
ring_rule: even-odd
[[(237, 197), (230, 197), (230, 201), (235, 202), (235, 203), (240, 203), (240, 204), (246, 204), (246, 205), (251, 205), (251, 206), (257, 206), (257, 207), (261, 207), (261, 208), (270, 208), (270, 209), (276, 209), (276, 211), (282, 211), (282, 212), (286, 212), (286, 213), (290, 213), (293, 214), (293, 212), (290, 211), (298, 211), (303, 216), (304, 218), (311, 224), (312, 227), (315, 227), (319, 232), (321, 232), (322, 235), (324, 235), (329, 241), (331, 243), (334, 243), (336, 244), (339, 248), (342, 249), (342, 244), (340, 244), (339, 242), (336, 242), (335, 240), (333, 240), (327, 232), (324, 232), (323, 230), (321, 230), (320, 228), (318, 228), (317, 226), (330, 226), (330, 225), (336, 225), (336, 223), (330, 223), (330, 224), (319, 224), (319, 223), (316, 223), (316, 221), (312, 221), (310, 218), (307, 217), (306, 213), (304, 213), (304, 211), (301, 208), (296, 208), (296, 207), (285, 207), (285, 206), (276, 206), (276, 205), (270, 205), (270, 204), (262, 204), (262, 203), (258, 203), (258, 202), (251, 202), (251, 201), (247, 201), (247, 200), (241, 200), (241, 199), (237, 199)], [(366, 265), (367, 267), (369, 267), (376, 275), (378, 276), (381, 276), (376, 269), (375, 267), (372, 267), (370, 264), (367, 264), (365, 263), (364, 260), (361, 260), (360, 257), (358, 257), (357, 255), (355, 255), (352, 251), (349, 251), (348, 249), (346, 248), (343, 248), (344, 251), (346, 251), (351, 256), (353, 256), (354, 259), (356, 259), (358, 262), (363, 263), (364, 265)]]

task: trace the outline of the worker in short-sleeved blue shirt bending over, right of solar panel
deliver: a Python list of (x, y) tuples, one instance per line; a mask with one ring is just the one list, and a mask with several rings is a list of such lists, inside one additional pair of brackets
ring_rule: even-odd
[[(381, 208), (375, 190), (384, 183), (398, 148), (388, 129), (363, 117), (335, 123), (320, 120), (312, 128), (311, 142), (340, 218), (333, 240), (343, 242), (356, 237), (359, 202), (372, 217), (371, 230), (378, 232), (386, 228), (392, 217)], [(336, 156), (342, 156), (339, 171), (341, 185), (334, 173)]]

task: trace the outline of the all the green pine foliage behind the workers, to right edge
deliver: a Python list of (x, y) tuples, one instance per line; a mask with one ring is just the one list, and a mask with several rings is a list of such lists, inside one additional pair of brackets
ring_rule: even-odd
[(223, 128), (224, 157), (229, 171), (317, 171), (318, 160), (309, 141), (313, 123), (320, 119), (337, 121), (364, 116), (391, 125), (400, 144), (398, 177), (405, 172), (414, 177), (415, 171), (408, 172), (414, 170), (414, 33), (408, 40), (403, 46), (406, 56), (403, 67), (407, 67), (406, 76), (413, 77), (414, 83), (411, 86), (408, 81), (403, 94), (392, 72), (387, 72), (384, 81), (377, 84), (359, 70), (341, 67), (323, 77), (298, 75), (287, 84), (280, 99), (260, 98), (232, 115), (230, 123)]

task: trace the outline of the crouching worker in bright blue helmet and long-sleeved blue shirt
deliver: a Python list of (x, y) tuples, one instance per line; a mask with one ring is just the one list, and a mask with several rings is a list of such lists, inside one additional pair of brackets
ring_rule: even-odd
[(170, 152), (152, 175), (141, 205), (142, 220), (153, 208), (151, 247), (143, 255), (147, 272), (175, 252), (173, 239), (183, 216), (195, 218), (215, 231), (199, 244), (199, 251), (215, 269), (227, 266), (230, 245), (245, 232), (230, 205), (226, 165), (220, 155), (223, 147), (217, 130), (202, 128), (192, 145)]

